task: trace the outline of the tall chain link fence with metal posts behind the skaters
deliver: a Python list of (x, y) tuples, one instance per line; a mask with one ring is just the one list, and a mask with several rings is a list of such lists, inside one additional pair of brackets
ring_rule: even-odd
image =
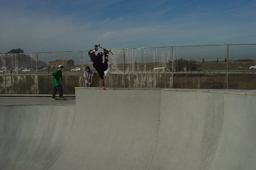
[[(101, 50), (97, 52), (102, 52)], [(96, 53), (97, 53), (96, 52)], [(256, 44), (112, 49), (112, 88), (256, 89)], [(64, 94), (83, 87), (88, 51), (0, 54), (0, 94), (52, 94), (51, 73), (64, 65)]]

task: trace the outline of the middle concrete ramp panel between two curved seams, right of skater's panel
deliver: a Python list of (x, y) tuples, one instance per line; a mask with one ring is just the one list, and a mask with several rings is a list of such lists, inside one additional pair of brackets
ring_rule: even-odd
[(223, 94), (159, 91), (160, 126), (151, 170), (207, 170), (221, 135)]

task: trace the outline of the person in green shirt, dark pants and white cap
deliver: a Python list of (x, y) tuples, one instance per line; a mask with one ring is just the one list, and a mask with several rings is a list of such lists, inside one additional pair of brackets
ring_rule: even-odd
[(52, 93), (52, 99), (55, 99), (55, 100), (56, 100), (55, 96), (56, 96), (57, 91), (59, 91), (59, 93), (60, 93), (59, 97), (61, 99), (66, 99), (65, 97), (63, 97), (63, 90), (62, 90), (62, 86), (60, 83), (60, 80), (63, 82), (63, 79), (62, 79), (63, 67), (64, 67), (63, 65), (59, 65), (58, 69), (51, 74), (53, 77), (52, 85), (54, 87), (53, 93)]

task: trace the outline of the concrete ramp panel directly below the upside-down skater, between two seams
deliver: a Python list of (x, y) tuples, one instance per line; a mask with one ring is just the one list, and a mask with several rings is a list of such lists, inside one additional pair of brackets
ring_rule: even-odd
[(76, 88), (70, 139), (50, 170), (148, 170), (159, 105), (159, 91)]

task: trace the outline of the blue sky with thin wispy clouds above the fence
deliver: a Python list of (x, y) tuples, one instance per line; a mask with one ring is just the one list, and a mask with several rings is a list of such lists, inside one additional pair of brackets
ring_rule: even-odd
[(0, 53), (256, 43), (256, 0), (0, 0)]

